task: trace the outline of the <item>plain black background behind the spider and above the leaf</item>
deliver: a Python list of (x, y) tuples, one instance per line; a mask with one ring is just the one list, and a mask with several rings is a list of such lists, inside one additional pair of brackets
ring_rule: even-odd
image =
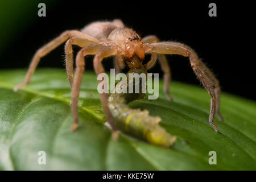
[[(43, 1), (42, 1), (43, 2)], [(217, 17), (209, 17), (209, 3), (217, 5)], [(19, 31), (0, 55), (1, 69), (27, 68), (36, 49), (61, 32), (80, 29), (96, 20), (122, 19), (142, 37), (156, 35), (191, 46), (220, 80), (224, 92), (255, 100), (253, 11), (247, 2), (220, 1), (59, 1), (46, 3), (46, 17), (38, 17), (38, 2), (32, 10), (35, 22)], [(26, 17), (24, 17), (26, 18)], [(15, 28), (15, 25), (14, 25)], [(75, 53), (79, 50), (74, 47)], [(172, 79), (200, 84), (187, 58), (168, 56)], [(106, 70), (112, 68), (107, 59)], [(111, 61), (112, 63), (112, 61)], [(39, 67), (64, 69), (64, 44), (40, 61)], [(86, 69), (93, 69), (92, 59)], [(156, 65), (152, 73), (160, 73)]]

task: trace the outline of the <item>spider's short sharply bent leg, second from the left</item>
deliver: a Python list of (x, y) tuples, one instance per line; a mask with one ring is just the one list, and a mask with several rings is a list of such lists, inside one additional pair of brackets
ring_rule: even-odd
[(65, 44), (65, 62), (66, 62), (66, 69), (68, 75), (68, 81), (72, 88), (73, 86), (73, 49), (72, 45), (77, 45), (79, 47), (86, 47), (92, 44), (96, 44), (96, 42), (89, 40), (89, 39), (81, 39), (77, 37), (70, 38), (67, 43)]

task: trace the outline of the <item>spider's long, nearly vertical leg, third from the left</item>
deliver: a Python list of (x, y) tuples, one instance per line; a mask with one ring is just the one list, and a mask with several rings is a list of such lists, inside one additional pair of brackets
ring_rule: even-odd
[(102, 45), (94, 44), (91, 46), (86, 46), (82, 48), (76, 56), (76, 72), (73, 80), (72, 86), (72, 112), (73, 112), (73, 125), (71, 127), (72, 131), (75, 131), (78, 126), (78, 98), (79, 98), (79, 90), (81, 86), (82, 76), (85, 69), (85, 59), (86, 55), (95, 55)]

